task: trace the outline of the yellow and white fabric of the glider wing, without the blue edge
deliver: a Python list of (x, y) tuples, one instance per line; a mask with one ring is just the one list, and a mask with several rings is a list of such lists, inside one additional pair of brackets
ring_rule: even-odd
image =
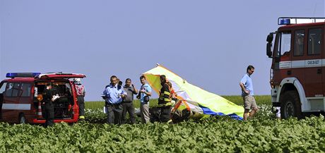
[(172, 71), (167, 70), (167, 68), (163, 66), (157, 66), (143, 73), (143, 75), (146, 77), (146, 80), (151, 85), (153, 90), (155, 90), (157, 93), (159, 93), (161, 89), (160, 75), (165, 75), (167, 81), (175, 83), (176, 87), (175, 85), (172, 85), (172, 87), (174, 88), (175, 92), (178, 92), (177, 97), (184, 99), (191, 104), (196, 106), (204, 106), (211, 109), (211, 111), (226, 115), (237, 114), (237, 116), (242, 117), (244, 114), (244, 108), (242, 106), (238, 106), (237, 104), (234, 104), (227, 99), (218, 96), (217, 94), (207, 92), (200, 87), (191, 85), (189, 82), (183, 78), (180, 78), (178, 75), (172, 73)]

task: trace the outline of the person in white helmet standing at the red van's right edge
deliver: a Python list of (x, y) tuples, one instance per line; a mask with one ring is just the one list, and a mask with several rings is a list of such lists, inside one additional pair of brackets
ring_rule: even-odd
[(81, 78), (73, 80), (76, 86), (77, 99), (79, 104), (79, 120), (85, 119), (85, 86), (81, 84)]

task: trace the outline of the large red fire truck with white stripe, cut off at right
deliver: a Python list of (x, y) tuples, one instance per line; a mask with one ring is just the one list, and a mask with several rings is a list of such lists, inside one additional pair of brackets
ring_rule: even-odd
[(281, 17), (281, 27), (266, 38), (266, 55), (272, 58), (271, 101), (280, 107), (281, 118), (325, 111), (324, 21)]

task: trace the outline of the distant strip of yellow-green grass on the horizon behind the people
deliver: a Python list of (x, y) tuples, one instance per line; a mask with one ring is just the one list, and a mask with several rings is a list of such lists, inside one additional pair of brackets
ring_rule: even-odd
[[(225, 99), (228, 99), (230, 102), (233, 102), (237, 105), (243, 105), (242, 97), (241, 96), (222, 96)], [(271, 96), (269, 95), (260, 95), (255, 96), (257, 105), (267, 104), (271, 105)], [(150, 99), (150, 106), (155, 106), (158, 104), (158, 99)], [(101, 102), (85, 102), (86, 109), (102, 109), (105, 105), (104, 101)], [(134, 106), (136, 108), (140, 107), (140, 101), (138, 99), (134, 100)]]

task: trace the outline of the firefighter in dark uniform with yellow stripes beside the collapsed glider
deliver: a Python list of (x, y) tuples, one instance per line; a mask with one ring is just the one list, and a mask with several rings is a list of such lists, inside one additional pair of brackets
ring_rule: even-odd
[(162, 87), (158, 99), (158, 106), (160, 107), (159, 118), (161, 122), (168, 122), (170, 121), (170, 110), (172, 109), (172, 99), (170, 99), (170, 87), (167, 84), (165, 75), (160, 75), (160, 82)]

